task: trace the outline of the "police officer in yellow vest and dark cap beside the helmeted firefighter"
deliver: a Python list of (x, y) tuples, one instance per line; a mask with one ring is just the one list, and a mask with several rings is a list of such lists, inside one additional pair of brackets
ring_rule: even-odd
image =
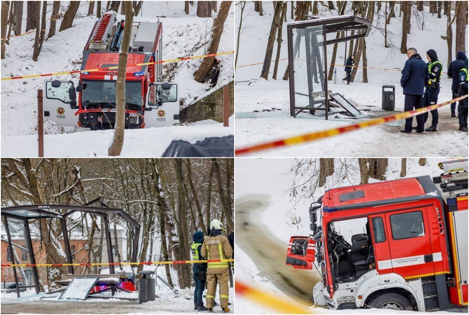
[[(204, 233), (200, 231), (196, 232), (192, 235), (192, 239), (194, 240), (194, 243), (192, 243), (191, 246), (192, 260), (205, 260), (201, 253), (202, 243), (204, 242)], [(207, 311), (207, 308), (204, 306), (204, 302), (202, 301), (202, 296), (205, 290), (207, 264), (194, 263), (192, 266), (192, 273), (194, 275), (194, 283), (196, 286), (194, 289), (194, 311)]]

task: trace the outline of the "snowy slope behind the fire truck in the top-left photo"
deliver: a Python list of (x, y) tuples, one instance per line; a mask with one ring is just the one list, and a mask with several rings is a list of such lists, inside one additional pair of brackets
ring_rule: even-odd
[[(83, 4), (85, 3), (83, 1)], [(66, 9), (68, 3), (64, 1), (62, 5), (63, 9)], [(103, 5), (105, 5), (105, 2)], [(190, 14), (187, 15), (184, 13), (184, 1), (144, 1), (141, 13), (138, 17), (135, 17), (135, 20), (156, 21), (159, 19), (163, 22), (164, 60), (189, 55), (198, 56), (207, 52), (207, 42), (210, 41), (210, 32), (214, 19), (198, 17), (196, 15), (196, 5), (190, 7)], [(49, 6), (52, 6), (52, 2), (49, 2)], [(6, 47), (5, 59), (1, 60), (1, 77), (79, 69), (83, 47), (96, 21), (95, 16), (86, 16), (87, 10), (88, 5), (81, 6), (78, 10), (81, 17), (77, 16), (75, 18), (73, 27), (58, 32), (49, 40), (44, 41), (37, 62), (31, 59), (34, 33), (11, 38), (10, 44)], [(24, 14), (26, 14), (26, 7), (24, 7)], [(47, 17), (50, 14), (51, 7), (47, 12)], [(60, 27), (60, 21), (57, 20), (57, 29)], [(220, 52), (234, 49), (233, 23), (234, 5), (232, 5), (225, 22), (219, 46)], [(23, 31), (24, 28), (25, 21)], [(48, 28), (47, 23), (46, 33)], [(201, 64), (202, 58), (164, 64), (163, 76), (165, 79), (178, 82), (181, 86), (180, 97), (183, 100), (183, 106), (187, 106), (195, 99), (207, 95), (233, 80), (233, 55), (223, 55), (220, 58), (223, 66), (218, 84), (212, 90), (209, 88), (209, 83), (198, 83), (193, 78), (193, 73)], [(47, 79), (49, 78), (47, 77)], [(75, 85), (78, 81), (77, 74), (52, 78), (72, 80)], [(43, 87), (43, 81), (44, 78), (30, 78), (1, 82), (2, 137), (37, 134), (36, 90)], [(75, 132), (76, 129), (74, 127), (59, 127), (47, 120), (44, 124), (44, 130), (47, 134)], [(227, 129), (232, 129), (233, 132), (233, 126)], [(212, 135), (216, 136), (216, 134), (213, 133)], [(83, 134), (80, 134), (80, 136), (83, 136)], [(13, 138), (11, 141), (21, 143), (23, 138)], [(66, 142), (67, 140), (64, 139), (63, 141)], [(29, 145), (27, 142), (23, 142), (23, 144), (24, 146)], [(12, 154), (14, 155), (14, 153)], [(62, 150), (61, 155), (72, 155), (72, 153)]]

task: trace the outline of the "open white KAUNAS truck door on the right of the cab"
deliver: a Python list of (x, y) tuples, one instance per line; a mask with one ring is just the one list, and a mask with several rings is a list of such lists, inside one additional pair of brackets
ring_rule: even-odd
[(166, 127), (179, 123), (177, 83), (151, 83), (145, 108), (145, 127)]

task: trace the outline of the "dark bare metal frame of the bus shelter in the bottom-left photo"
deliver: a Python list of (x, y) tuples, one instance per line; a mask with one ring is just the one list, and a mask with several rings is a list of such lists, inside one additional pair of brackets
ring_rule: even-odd
[[(97, 203), (102, 207), (94, 207), (91, 204)], [(57, 213), (51, 210), (65, 210), (65, 213)], [(28, 214), (27, 216), (20, 216), (15, 214), (17, 211), (26, 211)], [(109, 214), (114, 213), (120, 216), (122, 219), (130, 223), (134, 227), (134, 235), (132, 238), (132, 257), (131, 262), (135, 263), (137, 261), (137, 250), (138, 250), (138, 236), (140, 234), (140, 224), (137, 223), (131, 216), (129, 216), (123, 209), (118, 208), (110, 208), (105, 203), (100, 201), (100, 198), (95, 199), (83, 206), (73, 206), (73, 205), (26, 205), (26, 206), (14, 206), (14, 207), (5, 207), (1, 208), (1, 216), (4, 220), (5, 225), (5, 232), (8, 239), (9, 247), (8, 251), (11, 257), (11, 260), (14, 265), (14, 256), (13, 256), (13, 249), (11, 242), (11, 235), (8, 227), (8, 218), (21, 220), (23, 222), (24, 227), (24, 234), (26, 237), (26, 246), (29, 252), (29, 262), (32, 265), (32, 277), (34, 278), (34, 285), (30, 286), (21, 286), (22, 288), (35, 288), (36, 294), (39, 294), (39, 277), (37, 273), (36, 260), (34, 257), (34, 251), (32, 246), (32, 239), (31, 239), (31, 231), (29, 230), (29, 220), (33, 219), (45, 219), (45, 218), (55, 218), (60, 220), (60, 224), (62, 227), (62, 235), (63, 235), (63, 245), (65, 256), (67, 258), (67, 264), (72, 264), (72, 254), (70, 250), (70, 241), (68, 239), (68, 229), (67, 229), (67, 217), (75, 212), (85, 212), (89, 214), (98, 215), (103, 218), (104, 230), (105, 230), (105, 237), (106, 237), (106, 247), (107, 247), (107, 255), (109, 265), (109, 272), (111, 274), (115, 273), (114, 265), (114, 258), (112, 254), (112, 239), (111, 239), (111, 229), (109, 225)], [(116, 244), (117, 245), (117, 244)], [(18, 262), (19, 263), (19, 262)], [(14, 283), (16, 286), (16, 295), (19, 298), (19, 287), (18, 287), (18, 276), (16, 273), (16, 267), (13, 268), (13, 277)], [(68, 266), (68, 272), (71, 275), (74, 275), (73, 266)]]

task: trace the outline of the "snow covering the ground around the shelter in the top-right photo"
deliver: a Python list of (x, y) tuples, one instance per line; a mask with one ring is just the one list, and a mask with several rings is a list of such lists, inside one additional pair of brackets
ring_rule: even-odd
[[(397, 112), (404, 111), (404, 95), (400, 87), (401, 72), (399, 70), (404, 66), (407, 56), (400, 53), (399, 47), (384, 47), (384, 36), (381, 30), (377, 29), (377, 27), (384, 27), (384, 16), (380, 15), (384, 14), (384, 11), (381, 10), (380, 13), (375, 13), (373, 28), (369, 36), (366, 37), (368, 66), (392, 68), (397, 71), (368, 69), (369, 83), (361, 83), (362, 70), (359, 68), (355, 82), (346, 85), (341, 80), (345, 74), (343, 67), (337, 67), (337, 84), (334, 81), (328, 81), (328, 89), (331, 89), (333, 93), (338, 92), (342, 94), (346, 99), (356, 104), (357, 108), (362, 110), (362, 117), (350, 119), (339, 113), (343, 109), (332, 109), (328, 121), (324, 119), (323, 112), (316, 112), (316, 116), (302, 113), (296, 118), (290, 117), (288, 81), (271, 78), (273, 62), (270, 66), (268, 81), (259, 78), (262, 68), (261, 64), (239, 67), (263, 60), (268, 32), (272, 22), (273, 7), (271, 3), (264, 2), (263, 10), (264, 15), (259, 16), (258, 12), (254, 12), (254, 4), (247, 2), (243, 13), (239, 55), (236, 64), (238, 66), (236, 68), (235, 89), (235, 146), (237, 149), (304, 133), (343, 127), (371, 118), (394, 114), (395, 112), (386, 112), (381, 109), (382, 85), (395, 85), (395, 110)], [(289, 10), (290, 3), (288, 3), (288, 22), (291, 21)], [(321, 4), (319, 4), (319, 10), (320, 15), (330, 15)], [(446, 41), (440, 36), (446, 36), (446, 19), (437, 18), (436, 14), (432, 15), (428, 13), (428, 10), (426, 6), (423, 16), (421, 12), (416, 12), (413, 15), (411, 34), (408, 36), (407, 43), (409, 47), (416, 47), (425, 61), (426, 51), (428, 49), (435, 49), (446, 68), (448, 64), (448, 48)], [(347, 7), (346, 14), (352, 14), (350, 6)], [(236, 30), (239, 26), (239, 16), (240, 8), (239, 5), (236, 5)], [(453, 31), (455, 32), (455, 29)], [(401, 33), (401, 18), (398, 16), (392, 18), (391, 23), (388, 25), (388, 42), (398, 46), (401, 40)], [(280, 49), (280, 58), (286, 58), (286, 27), (283, 27), (282, 36), (283, 42)], [(432, 40), (428, 40), (428, 38), (432, 38)], [(332, 49), (333, 45), (328, 45), (329, 62)], [(344, 64), (344, 53), (344, 43), (339, 43), (337, 64)], [(274, 45), (273, 56), (275, 54), (276, 43)], [(301, 57), (304, 57), (303, 51), (300, 53)], [(287, 64), (288, 60), (279, 62), (278, 76), (280, 78), (283, 76)], [(361, 62), (359, 65), (361, 65)], [(448, 101), (451, 98), (451, 80), (444, 74), (439, 102)], [(254, 114), (256, 118), (241, 118), (246, 113)], [(402, 134), (400, 129), (403, 129), (404, 121), (397, 121), (320, 141), (261, 151), (253, 153), (251, 156), (467, 156), (468, 134), (458, 131), (458, 120), (450, 117), (450, 105), (439, 109), (439, 113), (439, 131), (436, 133), (429, 132), (423, 135)], [(427, 122), (427, 127), (429, 125), (430, 121)]]

